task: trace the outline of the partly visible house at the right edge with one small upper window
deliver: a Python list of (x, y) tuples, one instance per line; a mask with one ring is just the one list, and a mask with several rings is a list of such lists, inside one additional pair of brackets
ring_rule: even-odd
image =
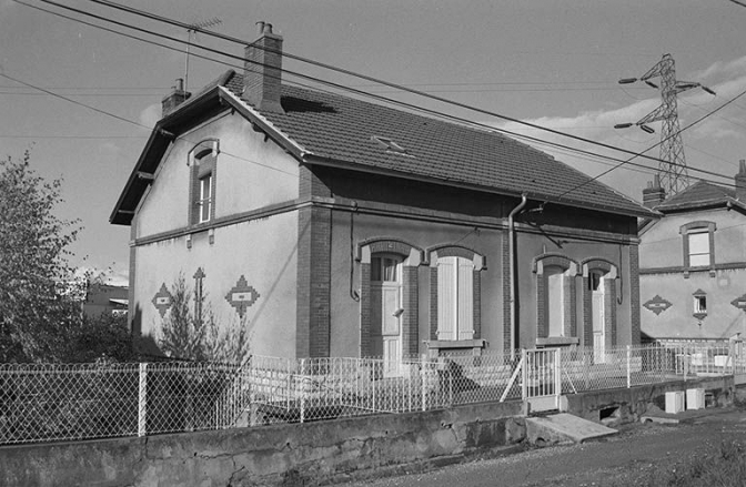
[(639, 231), (642, 332), (656, 342), (728, 339), (746, 332), (746, 161), (735, 189), (699, 181), (644, 203), (663, 214)]

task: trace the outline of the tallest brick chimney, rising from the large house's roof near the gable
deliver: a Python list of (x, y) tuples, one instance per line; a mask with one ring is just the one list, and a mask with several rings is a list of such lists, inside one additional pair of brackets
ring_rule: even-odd
[(280, 104), (282, 35), (272, 32), (271, 23), (256, 26), (259, 39), (245, 48), (243, 98), (258, 110), (285, 113)]

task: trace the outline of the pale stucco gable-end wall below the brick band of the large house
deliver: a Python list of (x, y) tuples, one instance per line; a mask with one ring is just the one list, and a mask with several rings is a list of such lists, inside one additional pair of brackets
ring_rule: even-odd
[(246, 308), (252, 327), (252, 353), (295, 356), (295, 295), (298, 270), (296, 212), (281, 213), (214, 230), (210, 244), (206, 231), (135, 248), (134, 303), (144, 335), (158, 336), (162, 317), (153, 304), (162, 285), (171, 290), (179, 275), (194, 290), (194, 273), (202, 268), (206, 304), (219, 323), (239, 319), (225, 298), (243, 276), (258, 293)]

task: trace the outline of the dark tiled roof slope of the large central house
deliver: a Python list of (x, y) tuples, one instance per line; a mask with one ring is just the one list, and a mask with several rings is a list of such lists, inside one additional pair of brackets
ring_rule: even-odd
[[(240, 74), (222, 79), (238, 97)], [(282, 87), (285, 113), (261, 112), (316, 158), (508, 195), (634, 216), (654, 213), (551, 155), (496, 132), (445, 122), (350, 97)], [(387, 150), (373, 138), (401, 146)], [(567, 194), (565, 194), (568, 192)]]

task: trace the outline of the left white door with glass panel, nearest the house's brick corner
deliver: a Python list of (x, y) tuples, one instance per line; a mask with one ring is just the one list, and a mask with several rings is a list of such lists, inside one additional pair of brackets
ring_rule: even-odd
[(383, 357), (383, 375), (400, 375), (402, 362), (402, 258), (376, 254), (371, 258), (373, 354)]

